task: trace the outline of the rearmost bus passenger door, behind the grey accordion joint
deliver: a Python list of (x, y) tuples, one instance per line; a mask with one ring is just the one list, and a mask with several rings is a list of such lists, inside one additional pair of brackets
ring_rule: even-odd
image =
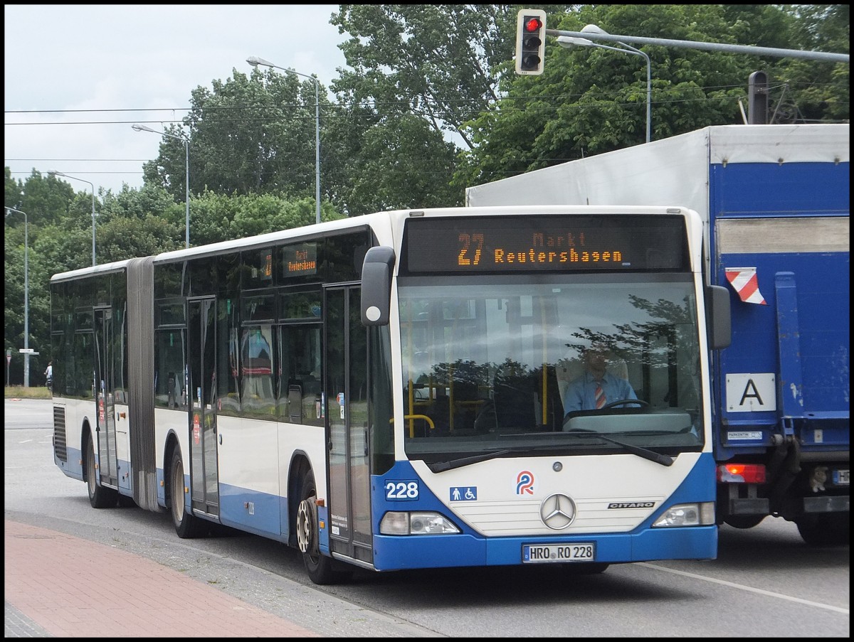
[(119, 486), (116, 462), (113, 364), (113, 310), (95, 309), (95, 404), (98, 472), (109, 487)]

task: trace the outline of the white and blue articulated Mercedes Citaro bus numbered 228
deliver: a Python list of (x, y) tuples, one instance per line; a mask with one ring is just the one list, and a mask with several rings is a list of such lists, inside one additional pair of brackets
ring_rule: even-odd
[[(681, 207), (401, 210), (57, 274), (55, 462), (319, 584), (714, 558), (702, 236)], [(594, 345), (633, 394), (564, 409)]]

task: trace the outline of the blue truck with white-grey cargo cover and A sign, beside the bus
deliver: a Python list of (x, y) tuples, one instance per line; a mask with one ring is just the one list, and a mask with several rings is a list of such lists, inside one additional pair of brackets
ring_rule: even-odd
[(730, 291), (711, 355), (717, 522), (849, 541), (848, 124), (715, 125), (466, 189), (466, 205), (690, 207)]

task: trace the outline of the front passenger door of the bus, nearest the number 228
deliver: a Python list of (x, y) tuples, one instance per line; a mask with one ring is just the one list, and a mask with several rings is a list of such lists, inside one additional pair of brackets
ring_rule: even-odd
[(330, 549), (372, 563), (367, 329), (360, 288), (325, 290)]

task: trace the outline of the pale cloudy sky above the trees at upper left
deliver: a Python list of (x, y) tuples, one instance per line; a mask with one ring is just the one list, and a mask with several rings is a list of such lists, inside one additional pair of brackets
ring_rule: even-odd
[[(117, 192), (143, 184), (158, 155), (155, 130), (180, 120), (190, 92), (251, 73), (250, 55), (322, 85), (344, 66), (330, 25), (336, 4), (5, 4), (4, 166), (35, 168)], [(283, 72), (284, 73), (284, 72)], [(75, 191), (90, 185), (63, 178)], [(190, 188), (192, 189), (192, 177)]]

